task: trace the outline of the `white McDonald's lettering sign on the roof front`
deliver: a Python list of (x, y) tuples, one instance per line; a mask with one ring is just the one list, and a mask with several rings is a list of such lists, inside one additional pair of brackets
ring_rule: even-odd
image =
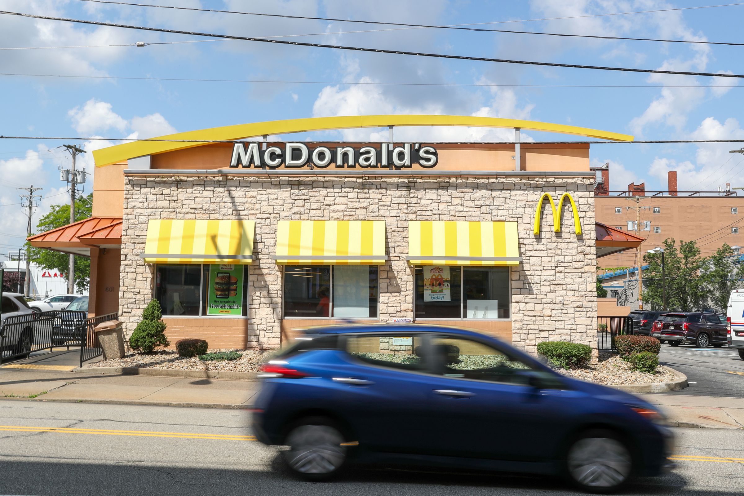
[(258, 142), (241, 142), (233, 146), (230, 167), (255, 167), (277, 169), (282, 164), (287, 169), (317, 167), (325, 169), (330, 164), (336, 168), (355, 169), (410, 169), (419, 164), (431, 169), (439, 162), (439, 154), (433, 146), (405, 143), (400, 146), (383, 143), (379, 147), (362, 146), (317, 146), (309, 149), (304, 143), (286, 143), (284, 147), (269, 146), (261, 149)]

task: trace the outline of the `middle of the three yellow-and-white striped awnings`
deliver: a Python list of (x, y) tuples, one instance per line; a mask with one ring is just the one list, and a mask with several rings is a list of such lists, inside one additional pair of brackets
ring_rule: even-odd
[(277, 251), (285, 265), (382, 265), (384, 220), (280, 220)]

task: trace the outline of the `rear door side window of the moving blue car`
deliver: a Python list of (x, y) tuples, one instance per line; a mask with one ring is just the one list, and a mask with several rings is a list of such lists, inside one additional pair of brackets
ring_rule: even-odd
[(389, 335), (350, 335), (346, 351), (365, 363), (398, 370), (424, 370), (423, 336), (401, 332)]

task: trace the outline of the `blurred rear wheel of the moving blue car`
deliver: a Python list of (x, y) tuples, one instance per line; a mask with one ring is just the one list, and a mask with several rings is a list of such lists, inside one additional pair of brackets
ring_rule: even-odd
[(338, 473), (347, 458), (344, 435), (329, 419), (298, 422), (286, 436), (284, 459), (295, 474), (308, 480), (326, 480)]

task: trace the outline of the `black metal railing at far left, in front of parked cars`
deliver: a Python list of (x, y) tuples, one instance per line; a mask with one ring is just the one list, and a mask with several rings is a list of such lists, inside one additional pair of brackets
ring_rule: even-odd
[(0, 326), (0, 364), (10, 358), (26, 357), (31, 352), (53, 347), (80, 346), (80, 325), (86, 312), (51, 310), (50, 312), (13, 315)]

